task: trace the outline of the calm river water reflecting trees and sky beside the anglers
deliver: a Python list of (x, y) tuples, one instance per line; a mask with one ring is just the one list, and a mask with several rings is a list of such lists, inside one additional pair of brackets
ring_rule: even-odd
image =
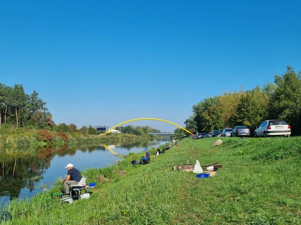
[(118, 155), (143, 151), (144, 147), (156, 147), (169, 141), (170, 138), (166, 137), (126, 144), (64, 146), (1, 153), (0, 205), (14, 198), (31, 197), (54, 185), (57, 178), (64, 178), (67, 174), (65, 166), (68, 163), (79, 170), (106, 167), (120, 160)]

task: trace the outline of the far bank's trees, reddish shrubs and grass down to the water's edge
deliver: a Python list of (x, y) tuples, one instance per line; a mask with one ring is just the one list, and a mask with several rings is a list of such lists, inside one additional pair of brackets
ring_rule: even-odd
[(117, 127), (123, 134), (99, 135), (92, 125), (77, 128), (74, 123), (56, 124), (46, 102), (34, 90), (24, 91), (22, 84), (13, 87), (0, 83), (0, 149), (62, 145), (82, 142), (107, 142), (150, 138), (148, 132), (160, 132), (149, 126)]

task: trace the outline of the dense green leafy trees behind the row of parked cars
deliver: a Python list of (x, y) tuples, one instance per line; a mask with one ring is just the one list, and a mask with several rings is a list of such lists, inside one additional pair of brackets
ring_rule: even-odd
[(193, 105), (193, 114), (185, 124), (194, 133), (236, 125), (254, 131), (266, 119), (284, 119), (293, 135), (301, 134), (301, 71), (296, 74), (293, 67), (287, 66), (284, 74), (276, 74), (274, 82), (263, 87), (205, 98)]

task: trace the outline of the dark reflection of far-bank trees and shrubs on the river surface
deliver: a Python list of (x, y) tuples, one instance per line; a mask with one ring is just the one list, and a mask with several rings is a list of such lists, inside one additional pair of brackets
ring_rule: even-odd
[[(106, 144), (114, 144), (115, 147), (130, 150), (132, 147), (148, 147), (147, 143), (148, 140), (133, 143)], [(106, 151), (106, 148), (104, 144), (88, 143), (39, 149), (0, 150), (0, 197), (9, 196), (10, 200), (18, 198), (23, 188), (27, 188), (32, 192), (37, 188), (35, 185), (44, 178), (43, 174), (50, 167), (51, 160), (55, 155), (74, 155), (77, 150), (92, 152), (94, 150)]]

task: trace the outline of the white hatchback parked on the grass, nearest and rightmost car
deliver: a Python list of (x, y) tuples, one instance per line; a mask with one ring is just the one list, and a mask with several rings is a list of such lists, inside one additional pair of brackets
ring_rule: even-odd
[(290, 136), (290, 125), (280, 119), (265, 120), (256, 127), (254, 131), (254, 136), (274, 136), (274, 135), (283, 135)]

